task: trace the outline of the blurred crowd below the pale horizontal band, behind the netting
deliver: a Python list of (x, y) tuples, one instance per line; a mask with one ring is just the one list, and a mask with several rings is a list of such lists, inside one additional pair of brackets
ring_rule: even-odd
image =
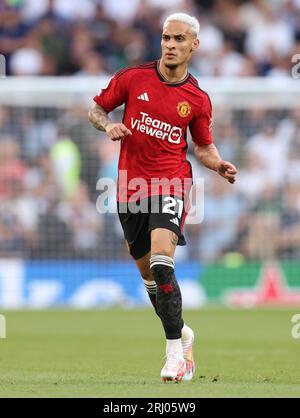
[[(89, 126), (86, 108), (1, 108), (0, 131), (0, 258), (127, 256), (117, 215), (95, 208), (97, 179), (117, 179), (119, 144)], [(215, 108), (214, 137), (238, 180), (232, 186), (202, 168), (190, 145), (194, 177), (205, 179), (205, 216), (186, 225), (179, 256), (299, 258), (300, 108), (226, 117)]]

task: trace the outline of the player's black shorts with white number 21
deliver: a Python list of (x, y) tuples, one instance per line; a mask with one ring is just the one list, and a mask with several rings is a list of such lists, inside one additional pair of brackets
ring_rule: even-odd
[(177, 245), (186, 245), (182, 235), (186, 218), (184, 201), (176, 196), (152, 196), (136, 205), (118, 202), (118, 214), (130, 254), (135, 260), (150, 251), (150, 233), (156, 228), (174, 232), (178, 236)]

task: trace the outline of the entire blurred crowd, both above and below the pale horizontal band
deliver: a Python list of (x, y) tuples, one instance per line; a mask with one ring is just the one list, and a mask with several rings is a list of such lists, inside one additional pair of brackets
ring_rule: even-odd
[[(194, 75), (290, 77), (299, 0), (0, 0), (0, 51), (11, 75), (105, 76), (159, 57), (161, 23), (179, 9), (201, 23)], [(97, 179), (117, 178), (119, 144), (90, 126), (84, 106), (1, 107), (0, 132), (0, 258), (127, 257), (117, 216), (95, 210)], [(299, 258), (300, 107), (215, 107), (214, 138), (238, 181), (201, 168), (190, 146), (205, 218), (186, 226), (180, 257)]]

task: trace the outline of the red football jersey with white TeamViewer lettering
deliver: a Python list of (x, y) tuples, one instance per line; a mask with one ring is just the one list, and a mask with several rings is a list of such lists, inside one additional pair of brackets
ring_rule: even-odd
[[(170, 83), (160, 73), (159, 61), (124, 68), (94, 101), (107, 113), (125, 104), (123, 123), (132, 132), (121, 143), (119, 202), (163, 193), (153, 187), (162, 179), (191, 181), (187, 128), (195, 143), (212, 143), (211, 102), (191, 74)], [(182, 196), (182, 188), (174, 184), (174, 195)]]

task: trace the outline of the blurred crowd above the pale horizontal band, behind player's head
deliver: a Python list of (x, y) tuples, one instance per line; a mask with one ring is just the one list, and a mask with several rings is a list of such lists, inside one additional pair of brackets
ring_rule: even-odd
[(156, 59), (178, 10), (201, 24), (195, 76), (289, 76), (300, 0), (0, 0), (0, 51), (13, 75), (103, 75)]

